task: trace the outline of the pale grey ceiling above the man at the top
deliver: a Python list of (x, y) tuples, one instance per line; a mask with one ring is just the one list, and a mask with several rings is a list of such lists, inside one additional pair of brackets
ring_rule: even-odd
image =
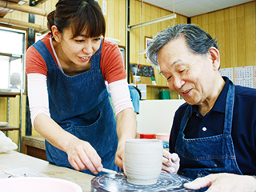
[(237, 6), (252, 0), (143, 0), (154, 6), (171, 10), (186, 17), (222, 10), (230, 6)]

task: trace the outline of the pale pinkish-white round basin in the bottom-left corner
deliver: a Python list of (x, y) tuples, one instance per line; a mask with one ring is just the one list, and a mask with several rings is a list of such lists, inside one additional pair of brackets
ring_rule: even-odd
[(2, 178), (0, 186), (8, 192), (82, 192), (78, 184), (60, 178)]

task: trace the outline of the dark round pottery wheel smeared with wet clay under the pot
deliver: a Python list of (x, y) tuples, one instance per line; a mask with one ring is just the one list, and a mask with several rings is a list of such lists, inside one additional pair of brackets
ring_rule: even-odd
[(191, 191), (186, 190), (184, 183), (192, 181), (178, 174), (161, 173), (158, 182), (154, 185), (134, 185), (127, 182), (127, 178), (123, 173), (118, 174), (102, 174), (90, 181), (90, 189), (92, 192), (117, 192), (117, 191)]

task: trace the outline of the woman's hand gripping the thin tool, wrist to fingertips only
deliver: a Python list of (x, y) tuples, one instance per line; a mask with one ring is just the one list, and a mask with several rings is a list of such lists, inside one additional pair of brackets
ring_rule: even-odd
[(89, 169), (94, 174), (102, 171), (102, 159), (89, 142), (82, 141), (78, 138), (72, 139), (66, 150), (66, 154), (68, 155), (70, 165), (75, 170)]

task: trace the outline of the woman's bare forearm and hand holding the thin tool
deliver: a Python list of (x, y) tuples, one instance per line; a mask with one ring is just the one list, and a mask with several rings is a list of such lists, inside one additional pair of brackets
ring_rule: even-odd
[(38, 114), (34, 120), (34, 129), (51, 145), (68, 155), (70, 165), (75, 170), (89, 169), (98, 174), (102, 171), (102, 159), (89, 142), (82, 141), (73, 134), (66, 132), (46, 114)]

